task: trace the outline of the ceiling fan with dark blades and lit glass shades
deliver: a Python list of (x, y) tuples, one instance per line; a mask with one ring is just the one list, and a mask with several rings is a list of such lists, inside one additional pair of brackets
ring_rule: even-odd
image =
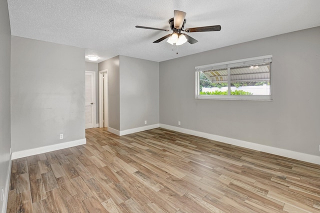
[[(182, 33), (182, 32), (206, 32), (206, 31), (220, 31), (220, 25), (213, 25), (213, 26), (200, 26), (200, 27), (192, 27), (192, 28), (184, 28), (184, 24), (186, 22), (185, 18), (186, 12), (180, 10), (174, 10), (174, 17), (169, 19), (170, 28), (172, 30), (171, 34), (167, 34), (155, 41), (153, 43), (158, 43), (165, 38), (168, 38), (167, 42), (172, 45), (181, 45), (188, 41), (190, 44), (198, 42), (193, 37)], [(155, 29), (155, 30), (163, 30), (163, 31), (170, 31), (169, 29), (161, 29), (161, 28), (154, 28), (148, 26), (139, 26), (136, 25), (137, 28), (144, 28), (144, 29)]]

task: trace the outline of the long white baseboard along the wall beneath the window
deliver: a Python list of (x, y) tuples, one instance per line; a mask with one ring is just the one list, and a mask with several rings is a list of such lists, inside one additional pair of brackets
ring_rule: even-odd
[(230, 138), (230, 137), (209, 134), (209, 133), (205, 133), (205, 132), (201, 132), (201, 131), (190, 130), (190, 129), (181, 128), (181, 127), (172, 126), (172, 125), (160, 124), (160, 127), (166, 128), (169, 130), (173, 130), (173, 131), (186, 133), (186, 134), (191, 134), (194, 136), (204, 137), (207, 139), (211, 139), (211, 140), (215, 140), (215, 141), (219, 141), (219, 142), (223, 142), (223, 143), (237, 145), (237, 146), (241, 146), (244, 148), (250, 148), (253, 150), (257, 150), (257, 151), (267, 152), (270, 154), (276, 154), (279, 156), (289, 157), (292, 159), (302, 160), (305, 162), (320, 164), (320, 156), (316, 156), (316, 155), (312, 155), (312, 154), (306, 154), (306, 153), (291, 151), (291, 150), (287, 150), (287, 149), (283, 149), (283, 148), (262, 145), (262, 144), (258, 144), (258, 143), (254, 143), (254, 142), (248, 142), (248, 141), (238, 140), (238, 139), (234, 139), (234, 138)]

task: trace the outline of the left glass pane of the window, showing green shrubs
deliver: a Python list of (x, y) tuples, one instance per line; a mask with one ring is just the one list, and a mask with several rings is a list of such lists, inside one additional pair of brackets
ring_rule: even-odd
[(227, 95), (227, 69), (199, 71), (200, 95)]

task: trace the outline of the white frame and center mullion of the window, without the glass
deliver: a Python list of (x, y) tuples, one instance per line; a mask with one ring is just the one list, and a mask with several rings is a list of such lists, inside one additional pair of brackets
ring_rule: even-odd
[[(244, 58), (239, 60), (231, 60), (220, 63), (212, 63), (207, 65), (195, 66), (195, 98), (196, 99), (220, 99), (220, 100), (272, 100), (272, 86), (270, 86), (270, 95), (230, 95), (230, 68), (238, 67), (241, 65), (254, 65), (261, 62), (270, 62), (270, 85), (271, 85), (271, 65), (272, 65), (272, 54)], [(200, 94), (199, 90), (199, 72), (208, 71), (212, 69), (226, 68), (228, 70), (227, 84), (228, 84), (228, 94), (227, 95), (205, 95)]]

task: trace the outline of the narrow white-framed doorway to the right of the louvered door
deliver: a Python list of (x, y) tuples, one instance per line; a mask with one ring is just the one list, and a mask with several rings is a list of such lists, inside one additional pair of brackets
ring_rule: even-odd
[(99, 127), (108, 127), (108, 72), (99, 71)]

